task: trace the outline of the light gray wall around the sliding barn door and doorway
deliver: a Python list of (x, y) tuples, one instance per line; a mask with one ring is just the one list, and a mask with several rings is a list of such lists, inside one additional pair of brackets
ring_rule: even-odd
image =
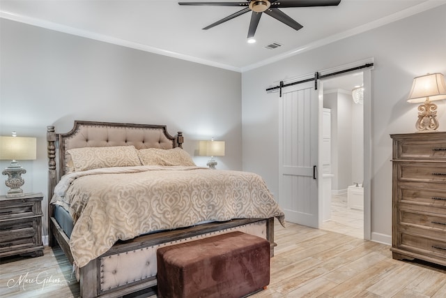
[[(438, 6), (243, 73), (243, 169), (261, 174), (271, 190), (278, 193), (279, 94), (267, 94), (266, 88), (289, 77), (374, 57), (371, 232), (372, 239), (390, 243), (392, 142), (389, 135), (415, 131), (417, 105), (406, 102), (413, 77), (433, 72), (446, 74), (445, 15), (446, 5)], [(445, 131), (446, 103), (438, 103), (438, 110), (440, 130)]]

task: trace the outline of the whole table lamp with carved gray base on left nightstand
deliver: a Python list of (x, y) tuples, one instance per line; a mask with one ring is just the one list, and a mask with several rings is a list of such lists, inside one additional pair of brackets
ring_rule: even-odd
[(26, 170), (17, 163), (18, 161), (27, 161), (36, 159), (36, 137), (17, 137), (13, 131), (12, 137), (0, 136), (0, 160), (11, 161), (1, 174), (8, 175), (5, 181), (10, 189), (6, 197), (20, 197), (24, 195), (22, 187), (25, 183), (22, 174)]

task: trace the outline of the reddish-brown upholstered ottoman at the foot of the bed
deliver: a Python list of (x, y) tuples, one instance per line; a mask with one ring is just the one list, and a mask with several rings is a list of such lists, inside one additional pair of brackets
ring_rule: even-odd
[(157, 250), (158, 297), (243, 297), (270, 283), (270, 242), (230, 232)]

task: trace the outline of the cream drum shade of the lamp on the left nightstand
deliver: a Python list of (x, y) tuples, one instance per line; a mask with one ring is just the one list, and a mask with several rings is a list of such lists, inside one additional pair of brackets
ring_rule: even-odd
[(0, 137), (0, 159), (14, 161), (36, 159), (36, 137)]

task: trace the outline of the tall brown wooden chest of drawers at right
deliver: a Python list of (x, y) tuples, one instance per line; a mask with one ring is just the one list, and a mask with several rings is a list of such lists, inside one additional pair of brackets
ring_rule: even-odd
[(393, 140), (393, 258), (446, 266), (446, 132)]

